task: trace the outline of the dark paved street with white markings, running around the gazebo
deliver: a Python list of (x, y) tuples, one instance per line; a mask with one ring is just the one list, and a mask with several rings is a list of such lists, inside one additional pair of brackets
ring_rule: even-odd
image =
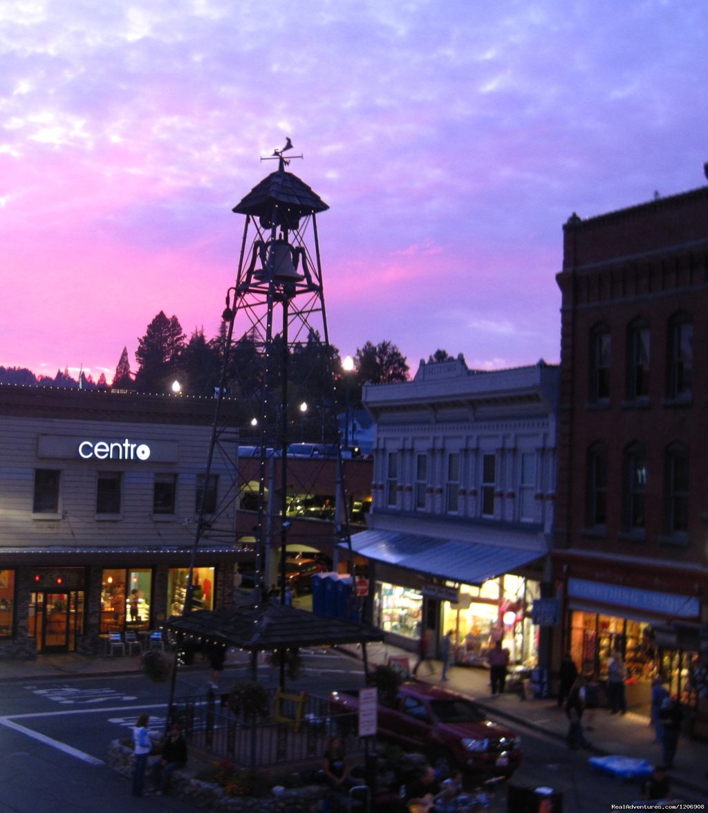
[[(376, 662), (393, 653), (375, 649), (371, 654)], [(358, 685), (362, 680), (361, 662), (349, 654), (323, 650), (305, 653), (303, 659), (305, 670), (293, 688), (326, 695), (330, 689)], [(123, 813), (132, 806), (128, 780), (106, 767), (107, 746), (112, 739), (128, 734), (141, 711), (148, 711), (155, 730), (162, 730), (167, 684), (150, 683), (136, 671), (137, 659), (129, 658), (83, 662), (80, 656), (40, 659), (34, 668), (32, 663), (24, 665), (26, 670), (35, 672), (33, 676), (23, 676), (16, 671), (19, 667), (15, 667), (14, 680), (7, 680), (13, 668), (10, 664), (7, 667), (2, 670), (6, 680), (0, 699), (3, 813), (42, 813), (54, 809)], [(92, 669), (93, 674), (85, 674)], [(77, 670), (84, 674), (76, 674)], [(242, 656), (232, 654), (222, 685), (227, 687), (245, 671)], [(202, 693), (207, 675), (208, 670), (202, 664), (180, 671), (178, 693)], [(438, 676), (439, 672), (424, 679), (435, 682)], [(277, 677), (271, 667), (258, 668), (258, 678), (265, 683), (275, 685)], [(597, 773), (588, 765), (587, 752), (567, 750), (559, 736), (565, 725), (563, 715), (552, 701), (523, 703), (513, 695), (489, 698), (484, 693), (484, 680), (484, 672), (455, 668), (450, 685), (478, 696), (493, 719), (510, 724), (522, 734), (524, 763), (514, 776), (514, 785), (547, 786), (561, 791), (566, 813), (610, 813), (613, 804), (637, 798), (636, 781), (624, 783)], [(598, 720), (597, 729), (602, 728), (603, 737), (614, 737), (609, 728), (613, 725), (623, 727), (625, 735), (634, 740), (637, 732), (649, 730), (643, 723), (640, 728), (632, 719), (604, 718)], [(632, 747), (643, 746), (635, 741)], [(695, 748), (700, 761), (706, 746), (696, 744)], [(689, 754), (693, 754), (692, 744), (682, 743), (680, 757), (685, 760)], [(699, 805), (705, 802), (700, 787), (677, 785), (676, 790), (685, 802)], [(193, 810), (173, 798), (146, 798), (141, 807), (176, 813)], [(506, 809), (506, 789), (502, 788), (492, 810), (502, 813)]]

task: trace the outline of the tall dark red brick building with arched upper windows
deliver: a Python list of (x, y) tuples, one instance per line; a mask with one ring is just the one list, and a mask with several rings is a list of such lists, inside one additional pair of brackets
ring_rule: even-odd
[[(708, 622), (708, 187), (564, 226), (562, 646), (695, 699)], [(556, 657), (560, 654), (558, 641)]]

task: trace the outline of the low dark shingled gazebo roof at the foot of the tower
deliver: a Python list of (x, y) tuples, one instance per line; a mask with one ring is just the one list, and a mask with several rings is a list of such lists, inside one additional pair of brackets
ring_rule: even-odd
[(315, 615), (293, 606), (263, 602), (254, 606), (250, 595), (219, 610), (193, 610), (172, 618), (165, 627), (186, 637), (237, 646), (250, 652), (298, 649), (305, 646), (383, 641), (384, 634), (367, 624)]

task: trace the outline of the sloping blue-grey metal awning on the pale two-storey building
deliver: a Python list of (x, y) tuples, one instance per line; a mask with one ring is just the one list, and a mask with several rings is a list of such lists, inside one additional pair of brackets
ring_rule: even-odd
[[(495, 528), (489, 532), (484, 529), (480, 533), (494, 537), (505, 532)], [(481, 585), (488, 579), (541, 559), (548, 552), (545, 542), (544, 547), (540, 548), (539, 534), (529, 535), (526, 546), (509, 544), (510, 541), (521, 540), (523, 534), (520, 532), (509, 532), (504, 537), (506, 544), (495, 544), (493, 539), (476, 542), (372, 529), (355, 533), (351, 537), (351, 546), (354, 553), (376, 562), (405, 567), (460, 584)], [(342, 542), (339, 547), (346, 550), (348, 545)]]

